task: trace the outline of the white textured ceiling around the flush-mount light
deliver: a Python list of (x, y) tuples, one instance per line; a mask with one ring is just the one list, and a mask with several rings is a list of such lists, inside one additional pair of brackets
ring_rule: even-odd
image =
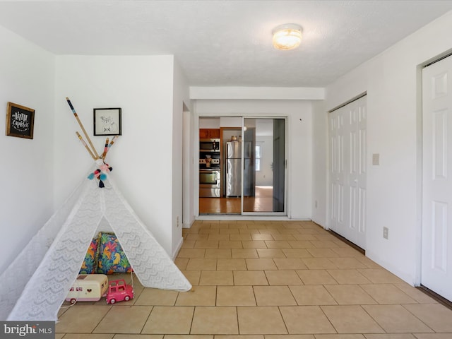
[[(452, 1), (4, 1), (0, 25), (54, 54), (174, 54), (191, 86), (324, 87)], [(303, 28), (299, 49), (271, 31)]]

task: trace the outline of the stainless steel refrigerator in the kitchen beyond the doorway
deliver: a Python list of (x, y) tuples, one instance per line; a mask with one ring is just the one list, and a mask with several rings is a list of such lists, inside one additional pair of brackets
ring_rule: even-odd
[[(244, 196), (254, 192), (254, 175), (251, 163), (251, 143), (244, 143)], [(225, 152), (225, 188), (226, 196), (242, 196), (242, 143), (230, 141), (226, 143)]]

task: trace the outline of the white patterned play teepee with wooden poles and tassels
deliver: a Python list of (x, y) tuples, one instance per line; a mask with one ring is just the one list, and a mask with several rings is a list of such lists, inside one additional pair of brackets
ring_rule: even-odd
[[(69, 99), (68, 103), (76, 116)], [(105, 228), (116, 234), (143, 286), (191, 290), (189, 281), (133, 212), (111, 176), (107, 178), (105, 172), (111, 167), (103, 160), (112, 143), (106, 143), (99, 157), (91, 142), (92, 150), (78, 137), (95, 159), (95, 169), (88, 175), (92, 180), (83, 179), (0, 276), (0, 319), (56, 320), (90, 242)]]

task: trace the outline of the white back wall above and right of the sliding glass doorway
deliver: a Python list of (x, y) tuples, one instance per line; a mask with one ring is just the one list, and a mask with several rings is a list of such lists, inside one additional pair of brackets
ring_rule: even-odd
[(311, 218), (312, 117), (309, 100), (196, 100), (197, 117), (287, 117), (287, 215)]

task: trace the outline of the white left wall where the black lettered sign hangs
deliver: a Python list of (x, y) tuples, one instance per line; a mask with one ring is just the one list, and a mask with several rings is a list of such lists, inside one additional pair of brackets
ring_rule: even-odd
[[(0, 50), (3, 272), (52, 214), (54, 57), (1, 27)], [(7, 102), (35, 109), (33, 139), (5, 135)]]

